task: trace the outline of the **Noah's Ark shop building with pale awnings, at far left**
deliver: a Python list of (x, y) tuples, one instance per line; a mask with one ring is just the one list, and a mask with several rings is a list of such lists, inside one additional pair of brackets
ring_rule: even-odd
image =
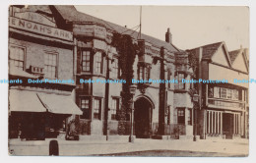
[[(73, 33), (56, 26), (48, 6), (10, 6), (9, 138), (65, 133), (75, 104)], [(44, 81), (67, 82), (44, 82)]]

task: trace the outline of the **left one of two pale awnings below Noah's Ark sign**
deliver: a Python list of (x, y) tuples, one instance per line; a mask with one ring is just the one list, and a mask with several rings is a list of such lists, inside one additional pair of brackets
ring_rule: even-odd
[(13, 112), (46, 112), (34, 91), (10, 89), (9, 102)]

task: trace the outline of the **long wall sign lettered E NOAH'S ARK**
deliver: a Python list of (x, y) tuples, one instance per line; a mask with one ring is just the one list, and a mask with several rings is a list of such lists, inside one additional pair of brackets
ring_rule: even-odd
[(60, 39), (73, 41), (73, 34), (70, 31), (63, 30), (56, 27), (47, 27), (44, 25), (30, 22), (30, 21), (22, 20), (19, 18), (10, 17), (9, 27), (20, 28), (20, 29), (32, 31), (32, 32), (47, 35), (47, 36), (52, 36)]

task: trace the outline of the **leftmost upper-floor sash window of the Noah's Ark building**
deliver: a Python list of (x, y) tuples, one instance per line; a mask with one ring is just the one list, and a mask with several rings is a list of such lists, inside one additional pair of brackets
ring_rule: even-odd
[(19, 46), (10, 46), (9, 48), (9, 62), (10, 65), (24, 70), (25, 48)]

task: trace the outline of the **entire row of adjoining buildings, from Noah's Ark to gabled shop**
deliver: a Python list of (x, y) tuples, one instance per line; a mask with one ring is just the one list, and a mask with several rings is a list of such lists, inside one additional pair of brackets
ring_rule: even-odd
[[(112, 44), (115, 33), (129, 35), (138, 48), (129, 106), (124, 103), (127, 75), (120, 69), (123, 54)], [(247, 84), (183, 82), (248, 79), (246, 53), (228, 52), (224, 42), (183, 51), (173, 45), (169, 29), (162, 41), (74, 6), (12, 6), (9, 79), (23, 82), (9, 84), (9, 137), (65, 135), (73, 119), (82, 139), (128, 136), (132, 129), (144, 138), (247, 137)], [(195, 94), (202, 100), (193, 101)]]

